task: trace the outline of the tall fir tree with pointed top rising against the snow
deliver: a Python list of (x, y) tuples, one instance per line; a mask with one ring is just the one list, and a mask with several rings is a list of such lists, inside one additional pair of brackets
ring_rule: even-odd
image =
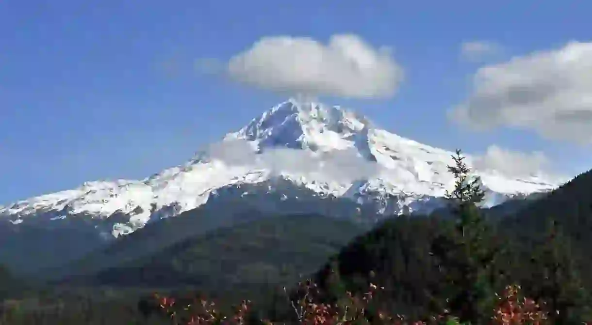
[(496, 301), (495, 264), (501, 247), (477, 206), (485, 194), (480, 178), (471, 179), (460, 150), (452, 158), (455, 165), (448, 170), (455, 177), (455, 189), (446, 192), (446, 199), (455, 224), (432, 243), (431, 254), (443, 280), (439, 292), (432, 294), (440, 297), (432, 308), (436, 313), (447, 310), (462, 323), (482, 324), (490, 320)]

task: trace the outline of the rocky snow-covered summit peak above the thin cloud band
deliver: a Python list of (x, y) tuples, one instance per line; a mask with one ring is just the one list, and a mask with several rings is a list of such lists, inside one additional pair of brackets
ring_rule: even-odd
[(226, 138), (256, 141), (259, 150), (286, 147), (330, 151), (351, 147), (353, 138), (369, 125), (365, 117), (340, 106), (290, 98)]

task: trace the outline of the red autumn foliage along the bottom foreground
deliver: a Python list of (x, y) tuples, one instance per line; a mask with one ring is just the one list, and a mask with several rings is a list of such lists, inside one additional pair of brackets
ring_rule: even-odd
[[(377, 290), (381, 288), (370, 284), (368, 291), (362, 295), (354, 295), (346, 292), (345, 297), (338, 303), (319, 303), (320, 291), (314, 282), (308, 280), (299, 283), (299, 298), (288, 299), (294, 310), (298, 324), (369, 324), (368, 304), (374, 297)], [(285, 290), (285, 289), (284, 289)], [(491, 319), (491, 325), (514, 325), (551, 324), (547, 313), (540, 308), (539, 304), (529, 298), (521, 298), (519, 285), (509, 285), (501, 295), (498, 295), (497, 307)], [(155, 295), (161, 310), (166, 313), (172, 324), (195, 325), (195, 324), (236, 324), (246, 323), (246, 315), (249, 312), (250, 301), (244, 300), (234, 308), (233, 316), (226, 316), (217, 310), (216, 305), (207, 300), (196, 298), (192, 303), (185, 306), (176, 306), (176, 301), (170, 297)], [(183, 316), (181, 316), (181, 314)], [(260, 320), (265, 324), (276, 324), (269, 320)], [(437, 315), (429, 320), (411, 321), (401, 315), (388, 315), (378, 311), (378, 317), (374, 317), (373, 324), (392, 325), (420, 325), (420, 324), (459, 324), (452, 316)], [(281, 324), (281, 322), (277, 323)]]

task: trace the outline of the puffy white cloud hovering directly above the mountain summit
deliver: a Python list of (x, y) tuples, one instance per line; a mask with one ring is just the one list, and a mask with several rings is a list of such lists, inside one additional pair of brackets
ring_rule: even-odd
[[(208, 69), (215, 66), (206, 63)], [(388, 48), (374, 48), (352, 34), (333, 35), (327, 44), (309, 37), (263, 37), (231, 57), (226, 73), (259, 89), (344, 98), (388, 98), (403, 79)]]

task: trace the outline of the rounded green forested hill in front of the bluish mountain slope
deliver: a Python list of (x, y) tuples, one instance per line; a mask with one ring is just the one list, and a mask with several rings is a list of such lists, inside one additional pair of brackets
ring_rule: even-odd
[(365, 229), (320, 215), (263, 217), (186, 238), (79, 283), (119, 288), (191, 285), (208, 295), (252, 293), (253, 288), (287, 285), (299, 274), (310, 274)]

